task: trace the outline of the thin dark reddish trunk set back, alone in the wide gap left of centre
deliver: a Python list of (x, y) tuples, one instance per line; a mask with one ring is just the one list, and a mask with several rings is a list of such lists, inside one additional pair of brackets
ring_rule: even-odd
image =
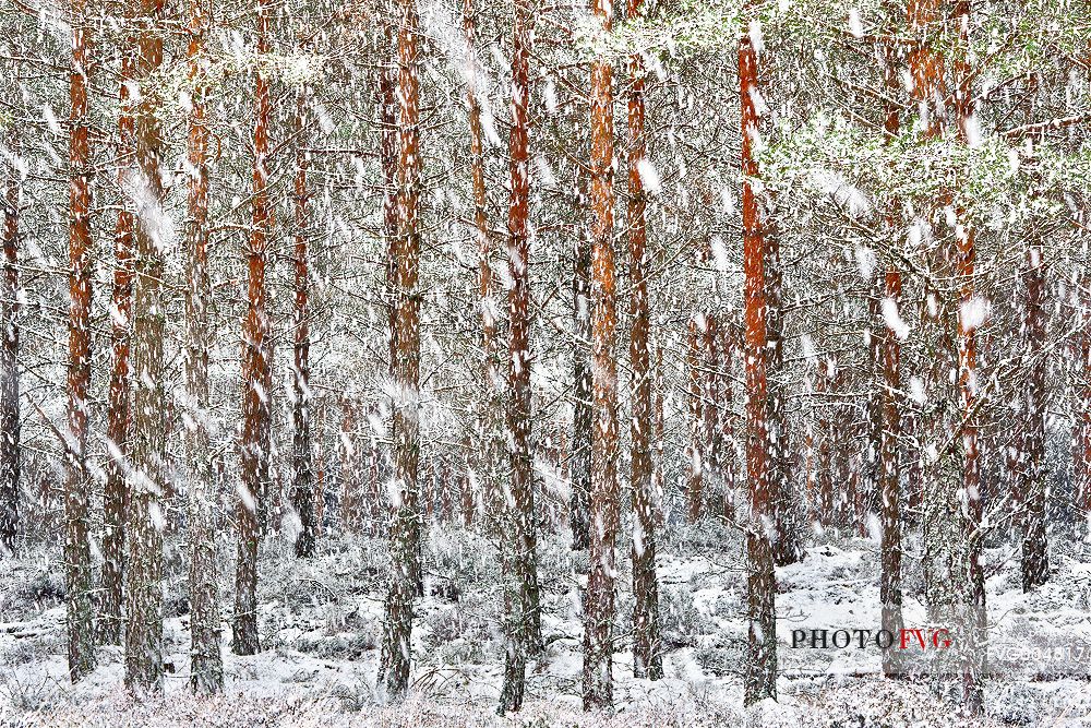
[(296, 556), (314, 556), (314, 464), (311, 460), (311, 324), (310, 274), (308, 272), (307, 242), (311, 228), (310, 192), (307, 189), (307, 170), (310, 152), (307, 151), (307, 100), (309, 89), (300, 85), (296, 96), (296, 307), (292, 311), (295, 330), (295, 361), (292, 367), (291, 458), (292, 508), (299, 515), (300, 529), (296, 536)]

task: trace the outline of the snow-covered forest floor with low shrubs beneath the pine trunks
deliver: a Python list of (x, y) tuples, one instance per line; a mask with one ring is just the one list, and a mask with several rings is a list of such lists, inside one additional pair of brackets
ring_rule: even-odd
[[(413, 628), (413, 690), (382, 707), (374, 693), (385, 542), (332, 538), (308, 561), (273, 539), (263, 553), (262, 652), (230, 654), (224, 623), (227, 694), (207, 702), (187, 689), (188, 606), (179, 545), (168, 547), (166, 663), (161, 703), (135, 703), (122, 690), (123, 656), (103, 648), (100, 666), (67, 679), (62, 560), (38, 548), (0, 574), (0, 725), (3, 726), (731, 726), (742, 713), (744, 572), (739, 537), (703, 524), (670, 529), (659, 577), (667, 678), (632, 677), (630, 625), (618, 625), (616, 714), (580, 712), (578, 564), (559, 539), (542, 539), (541, 580), (548, 647), (528, 676), (521, 714), (494, 715), (503, 665), (501, 583), (495, 545), (479, 534), (433, 527), (427, 539), (427, 596)], [(1010, 545), (986, 549), (993, 644), (1035, 634), (1091, 642), (1091, 548), (1054, 544), (1047, 585), (1024, 596)], [(184, 547), (184, 545), (182, 545)], [(908, 549), (907, 625), (923, 624), (915, 545)], [(1012, 558), (1015, 557), (1015, 558)], [(229, 571), (227, 573), (230, 573)], [(624, 575), (623, 578), (627, 576)], [(224, 604), (230, 605), (228, 580)], [(625, 582), (623, 582), (625, 583)], [(827, 534), (799, 564), (778, 570), (780, 702), (765, 705), (775, 726), (971, 725), (928, 680), (884, 680), (878, 649), (792, 648), (793, 629), (878, 629), (878, 545)], [(631, 612), (622, 589), (620, 614)], [(225, 614), (227, 617), (227, 614)], [(1022, 625), (1022, 626), (1020, 626)], [(994, 677), (985, 721), (972, 725), (1091, 726), (1089, 683), (1078, 677)]]

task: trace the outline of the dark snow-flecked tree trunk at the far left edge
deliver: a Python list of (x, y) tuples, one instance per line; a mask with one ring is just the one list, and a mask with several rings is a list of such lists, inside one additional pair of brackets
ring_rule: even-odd
[[(11, 139), (14, 141), (14, 132)], [(15, 144), (12, 144), (11, 153), (16, 153)], [(9, 165), (8, 170), (3, 199), (3, 289), (0, 291), (0, 557), (15, 553), (20, 532), (20, 172), (14, 163)]]

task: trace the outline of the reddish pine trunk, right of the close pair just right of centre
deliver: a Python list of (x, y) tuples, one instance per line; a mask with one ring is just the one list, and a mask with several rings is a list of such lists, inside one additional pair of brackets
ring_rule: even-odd
[[(642, 0), (628, 0), (630, 21), (640, 17)], [(659, 580), (656, 576), (656, 503), (651, 460), (651, 312), (648, 299), (648, 234), (645, 222), (647, 193), (640, 167), (647, 164), (644, 131), (644, 59), (628, 59), (628, 258), (633, 290), (630, 298), (632, 333), (630, 361), (633, 374), (630, 396), (631, 477), (633, 488), (633, 675), (659, 680), (663, 677), (659, 636)]]

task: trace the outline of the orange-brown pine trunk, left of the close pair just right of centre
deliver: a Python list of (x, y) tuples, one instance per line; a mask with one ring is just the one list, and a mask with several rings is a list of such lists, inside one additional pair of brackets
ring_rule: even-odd
[[(591, 10), (610, 32), (609, 0)], [(613, 704), (614, 581), (618, 530), (618, 327), (613, 250), (613, 68), (608, 59), (591, 63), (591, 440), (590, 574), (584, 609), (584, 709)]]

